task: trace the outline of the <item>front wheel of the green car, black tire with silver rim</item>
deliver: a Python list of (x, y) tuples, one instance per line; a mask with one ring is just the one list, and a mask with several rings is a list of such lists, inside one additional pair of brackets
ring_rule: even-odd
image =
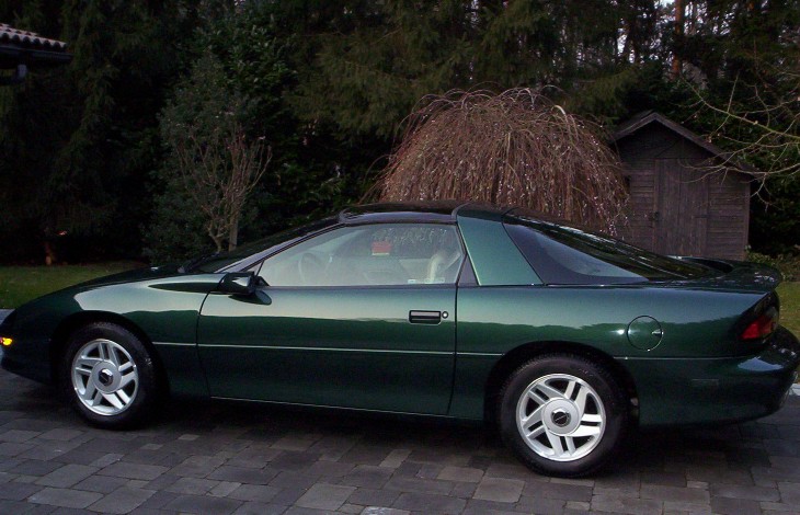
[(96, 322), (72, 333), (60, 364), (61, 388), (92, 425), (123, 430), (140, 425), (156, 408), (152, 356), (119, 325)]

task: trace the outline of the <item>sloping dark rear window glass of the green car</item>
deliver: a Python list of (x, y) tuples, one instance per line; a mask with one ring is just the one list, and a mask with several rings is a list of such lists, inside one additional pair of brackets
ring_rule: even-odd
[(627, 284), (690, 279), (711, 268), (648, 252), (609, 236), (511, 211), (508, 236), (545, 284)]

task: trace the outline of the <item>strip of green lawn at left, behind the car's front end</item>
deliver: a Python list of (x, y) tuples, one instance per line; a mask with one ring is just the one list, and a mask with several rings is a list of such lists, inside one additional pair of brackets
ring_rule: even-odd
[(16, 308), (50, 291), (139, 266), (142, 264), (132, 261), (88, 265), (0, 266), (0, 308)]

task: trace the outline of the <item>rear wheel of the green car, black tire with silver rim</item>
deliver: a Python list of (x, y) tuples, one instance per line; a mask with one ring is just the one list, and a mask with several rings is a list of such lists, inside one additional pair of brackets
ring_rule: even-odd
[(505, 381), (499, 412), (506, 446), (532, 470), (591, 474), (618, 450), (628, 403), (610, 373), (576, 355), (544, 355)]

